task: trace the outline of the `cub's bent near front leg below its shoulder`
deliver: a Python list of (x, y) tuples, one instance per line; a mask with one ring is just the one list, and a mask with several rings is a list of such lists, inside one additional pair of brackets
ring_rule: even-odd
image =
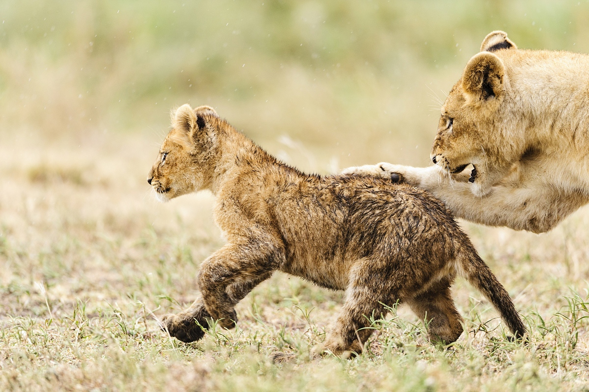
[(227, 243), (200, 267), (198, 287), (204, 306), (223, 328), (237, 321), (235, 305), (257, 284), (269, 278), (283, 259), (282, 250), (270, 242), (246, 239)]

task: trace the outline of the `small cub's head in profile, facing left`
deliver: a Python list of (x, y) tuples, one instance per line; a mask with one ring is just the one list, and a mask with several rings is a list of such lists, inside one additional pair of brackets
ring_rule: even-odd
[(185, 104), (171, 118), (172, 129), (147, 176), (162, 202), (209, 187), (217, 151), (211, 120), (218, 116), (213, 108)]

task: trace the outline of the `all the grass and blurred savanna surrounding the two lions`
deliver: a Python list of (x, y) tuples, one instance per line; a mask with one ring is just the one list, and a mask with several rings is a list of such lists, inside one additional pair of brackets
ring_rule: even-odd
[(361, 357), (312, 360), (342, 295), (283, 274), (234, 331), (158, 329), (222, 240), (212, 196), (162, 205), (145, 182), (187, 101), (306, 170), (428, 164), (431, 109), (485, 34), (589, 52), (587, 2), (163, 4), (0, 5), (0, 390), (589, 390), (587, 208), (544, 235), (464, 223), (529, 345), (458, 281), (466, 332), (447, 350), (399, 307)]

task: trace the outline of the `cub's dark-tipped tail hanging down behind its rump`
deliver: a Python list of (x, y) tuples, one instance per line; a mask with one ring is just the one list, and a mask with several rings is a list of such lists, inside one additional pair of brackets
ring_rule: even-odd
[[(470, 241), (469, 241), (470, 242)], [(471, 285), (475, 286), (482, 295), (487, 298), (497, 309), (501, 318), (507, 324), (509, 331), (516, 338), (522, 338), (525, 334), (525, 327), (515, 310), (507, 290), (499, 283), (489, 266), (481, 259), (474, 246), (460, 246), (458, 257), (458, 272), (464, 276)], [(460, 271), (462, 267), (462, 271)]]

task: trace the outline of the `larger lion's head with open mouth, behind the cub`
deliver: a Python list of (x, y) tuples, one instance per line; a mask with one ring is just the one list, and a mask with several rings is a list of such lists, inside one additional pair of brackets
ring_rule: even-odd
[(487, 193), (510, 166), (509, 143), (502, 140), (505, 121), (509, 121), (505, 119), (509, 117), (509, 80), (496, 53), (515, 49), (505, 32), (487, 35), (481, 52), (468, 61), (462, 78), (442, 106), (432, 161), (449, 173), (462, 172), (472, 164), (469, 181), (474, 183), (473, 192), (479, 196)]

